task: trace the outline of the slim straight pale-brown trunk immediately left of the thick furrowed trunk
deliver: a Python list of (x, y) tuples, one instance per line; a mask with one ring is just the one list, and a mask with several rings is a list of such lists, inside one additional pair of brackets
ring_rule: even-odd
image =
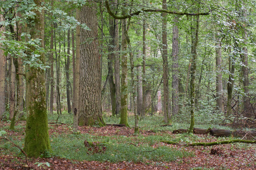
[[(76, 19), (80, 19), (80, 9), (76, 9)], [(75, 56), (75, 37), (72, 31), (72, 57), (73, 57), (73, 129), (77, 131), (79, 117), (79, 81), (80, 81), (80, 26), (76, 27), (76, 56)]]

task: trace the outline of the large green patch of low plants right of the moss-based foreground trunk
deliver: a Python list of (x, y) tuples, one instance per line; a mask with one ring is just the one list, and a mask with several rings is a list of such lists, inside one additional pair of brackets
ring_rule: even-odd
[[(162, 137), (155, 137), (154, 143)], [(106, 151), (94, 153), (89, 147), (84, 146), (84, 140), (89, 142), (105, 143)], [(152, 137), (96, 137), (88, 134), (81, 135), (60, 135), (52, 139), (51, 145), (53, 154), (67, 159), (75, 160), (98, 160), (109, 162), (170, 162), (185, 156), (193, 156), (190, 152), (176, 150), (168, 146), (152, 147)], [(131, 144), (132, 143), (132, 144)]]

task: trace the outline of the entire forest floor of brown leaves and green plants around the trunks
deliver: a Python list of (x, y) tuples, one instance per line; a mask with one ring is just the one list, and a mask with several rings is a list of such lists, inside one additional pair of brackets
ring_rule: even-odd
[[(69, 117), (69, 118), (68, 118)], [(56, 118), (56, 117), (54, 117)], [(116, 117), (105, 117), (109, 124)], [(79, 134), (73, 133), (70, 114), (60, 116), (63, 124), (49, 118), (49, 137), (52, 147), (50, 158), (29, 158), (32, 169), (255, 169), (255, 144), (233, 143), (228, 145), (185, 147), (168, 145), (160, 141), (177, 143), (215, 142), (234, 139), (213, 137), (208, 134), (173, 134), (174, 129), (185, 128), (184, 124), (163, 125), (159, 116), (146, 117), (141, 130), (134, 134), (133, 128), (125, 126), (80, 126)], [(133, 117), (129, 117), (132, 124)], [(25, 122), (19, 121), (14, 131), (10, 123), (1, 122), (7, 138), (22, 147)], [(187, 125), (188, 126), (188, 125)], [(207, 127), (206, 125), (201, 125)], [(228, 127), (216, 126), (216, 128)], [(84, 141), (95, 146), (85, 146)], [(105, 143), (97, 146), (96, 143)], [(105, 147), (102, 149), (102, 147)], [(1, 169), (28, 169), (24, 155), (9, 141), (0, 142)], [(40, 164), (39, 164), (40, 163)], [(48, 163), (49, 167), (46, 165)], [(40, 166), (38, 166), (40, 165)], [(26, 168), (27, 167), (27, 168)]]

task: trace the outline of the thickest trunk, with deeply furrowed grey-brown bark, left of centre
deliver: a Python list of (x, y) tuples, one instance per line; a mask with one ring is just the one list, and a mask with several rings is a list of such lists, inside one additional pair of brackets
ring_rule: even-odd
[(101, 59), (98, 49), (97, 4), (88, 2), (81, 8), (81, 23), (90, 30), (80, 33), (79, 125), (98, 123), (104, 126), (101, 108)]

